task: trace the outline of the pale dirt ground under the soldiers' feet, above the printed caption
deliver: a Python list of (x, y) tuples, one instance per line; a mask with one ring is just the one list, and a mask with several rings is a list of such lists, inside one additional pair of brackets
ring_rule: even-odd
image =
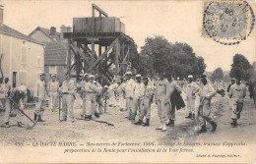
[[(61, 140), (76, 140), (79, 142), (87, 141), (154, 141), (156, 144), (164, 144), (166, 141), (175, 140), (255, 140), (256, 110), (253, 101), (247, 96), (244, 102), (244, 109), (241, 113), (241, 119), (238, 121), (237, 128), (230, 126), (230, 113), (228, 109), (227, 96), (222, 97), (217, 95), (213, 98), (212, 108), (215, 108), (215, 121), (218, 124), (217, 132), (207, 132), (204, 134), (195, 133), (196, 120), (192, 121), (185, 119), (188, 114), (187, 110), (176, 111), (175, 127), (168, 127), (167, 132), (155, 130), (159, 125), (158, 110), (156, 104), (152, 104), (152, 119), (150, 127), (142, 127), (131, 124), (125, 117), (127, 111), (119, 111), (115, 108), (107, 108), (106, 113), (100, 116), (99, 119), (93, 117), (94, 120), (106, 121), (114, 126), (108, 126), (104, 123), (96, 121), (76, 120), (75, 123), (65, 122), (60, 123), (58, 112), (51, 112), (46, 109), (43, 119), (44, 123), (37, 123), (32, 130), (26, 128), (18, 128), (16, 119), (11, 118), (10, 128), (0, 128), (0, 146), (12, 146), (17, 141), (30, 143), (32, 141), (61, 141)], [(76, 117), (80, 117), (80, 109), (75, 109)], [(33, 110), (28, 108), (25, 110), (32, 117)], [(3, 114), (0, 114), (0, 124), (3, 124)], [(23, 122), (30, 124), (30, 121), (24, 116)], [(210, 125), (207, 126), (210, 130)]]

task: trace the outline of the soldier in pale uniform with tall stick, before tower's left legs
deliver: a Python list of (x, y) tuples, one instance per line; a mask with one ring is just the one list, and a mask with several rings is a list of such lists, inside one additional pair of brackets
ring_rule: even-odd
[(75, 122), (75, 117), (73, 113), (73, 98), (75, 93), (75, 82), (70, 79), (68, 73), (65, 74), (65, 81), (61, 86), (62, 95), (62, 120), (61, 122), (67, 121), (67, 115), (69, 112), (69, 118), (72, 123)]

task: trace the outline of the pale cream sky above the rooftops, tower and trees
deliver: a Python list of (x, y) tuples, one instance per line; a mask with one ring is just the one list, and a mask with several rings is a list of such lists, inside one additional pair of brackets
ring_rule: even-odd
[[(256, 14), (256, 3), (248, 0)], [(108, 17), (120, 18), (125, 33), (139, 47), (148, 36), (162, 35), (169, 42), (186, 42), (207, 64), (206, 71), (218, 67), (230, 70), (232, 57), (239, 53), (250, 63), (256, 59), (255, 28), (240, 44), (227, 46), (202, 36), (203, 1), (84, 1), (84, 0), (2, 0), (4, 24), (29, 34), (35, 27), (73, 27), (73, 18), (92, 17), (92, 4), (104, 10)]]

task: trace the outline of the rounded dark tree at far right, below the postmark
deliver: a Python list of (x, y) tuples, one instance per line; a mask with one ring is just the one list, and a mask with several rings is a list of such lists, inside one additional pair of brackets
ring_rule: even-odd
[(248, 81), (253, 75), (253, 70), (252, 65), (243, 55), (235, 54), (229, 76), (231, 78), (241, 77), (243, 80)]

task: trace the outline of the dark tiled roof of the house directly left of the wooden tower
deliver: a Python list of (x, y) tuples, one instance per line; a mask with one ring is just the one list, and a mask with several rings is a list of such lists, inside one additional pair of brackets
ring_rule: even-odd
[(66, 65), (68, 49), (60, 42), (50, 42), (44, 47), (44, 65)]

